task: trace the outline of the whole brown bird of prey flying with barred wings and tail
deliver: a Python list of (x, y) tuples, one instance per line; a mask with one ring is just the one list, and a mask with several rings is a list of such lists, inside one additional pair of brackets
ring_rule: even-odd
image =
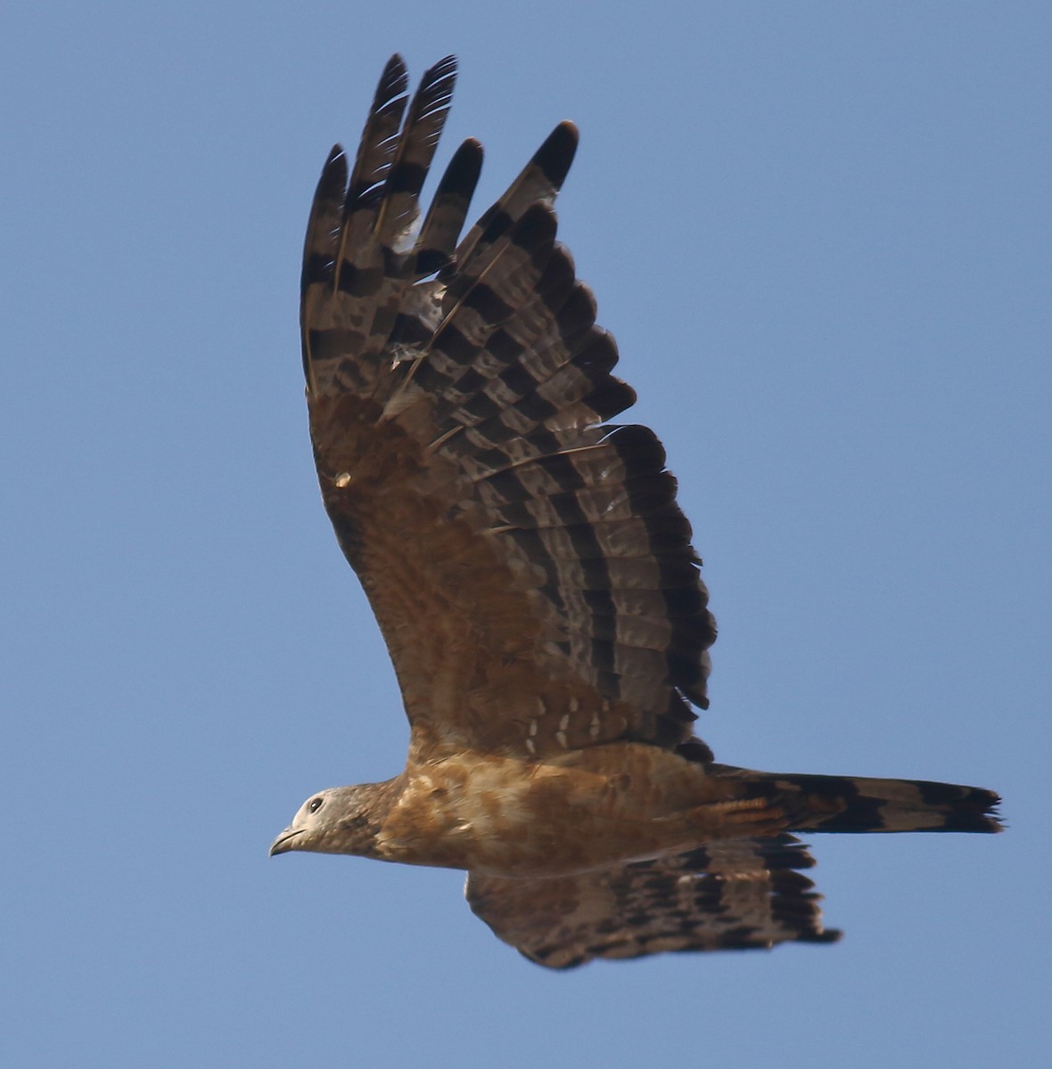
[(773, 774), (692, 735), (716, 629), (665, 451), (555, 239), (561, 123), (463, 237), (482, 146), (420, 193), (456, 77), (384, 68), (310, 212), (303, 367), (322, 498), (383, 632), (405, 770), (311, 795), (292, 850), (463, 869), (551, 969), (825, 943), (796, 832), (995, 832), (949, 784)]

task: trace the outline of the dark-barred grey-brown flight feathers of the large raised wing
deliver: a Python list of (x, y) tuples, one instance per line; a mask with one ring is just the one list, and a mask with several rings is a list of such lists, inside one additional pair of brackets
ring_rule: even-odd
[[(683, 742), (715, 630), (664, 450), (643, 428), (606, 423), (635, 392), (611, 374), (616, 345), (551, 211), (577, 133), (558, 126), (455, 246), (482, 156), (466, 142), (414, 239), (455, 77), (443, 60), (410, 100), (392, 60), (352, 173), (339, 151), (322, 172), (303, 275), (312, 418), (359, 398), (355, 420), (403, 430), (417, 491), (486, 538), (550, 636), (545, 670), (640, 707), (641, 738)], [(348, 539), (352, 515), (376, 507), (367, 480), (353, 491), (326, 492)]]

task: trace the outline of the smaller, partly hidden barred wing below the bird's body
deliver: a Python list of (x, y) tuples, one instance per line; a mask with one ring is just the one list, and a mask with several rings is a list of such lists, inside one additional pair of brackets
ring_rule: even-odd
[(834, 942), (840, 932), (822, 927), (821, 896), (799, 872), (813, 864), (806, 847), (783, 834), (557, 880), (471, 873), (464, 896), (531, 961), (571, 969), (664, 950)]

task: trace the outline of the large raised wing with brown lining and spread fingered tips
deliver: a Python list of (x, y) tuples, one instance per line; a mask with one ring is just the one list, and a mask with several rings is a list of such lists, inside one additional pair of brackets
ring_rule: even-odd
[(325, 508), (386, 639), (417, 745), (542, 756), (677, 745), (715, 637), (665, 452), (555, 241), (563, 123), (458, 242), (467, 141), (418, 223), (455, 79), (397, 56), (353, 169), (307, 230), (302, 328)]

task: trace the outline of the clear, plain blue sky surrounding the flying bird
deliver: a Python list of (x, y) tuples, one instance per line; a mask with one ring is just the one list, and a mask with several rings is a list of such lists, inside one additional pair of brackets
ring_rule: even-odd
[[(395, 50), (460, 57), (478, 212), (581, 127), (561, 233), (705, 558), (717, 755), (1005, 795), (814, 837), (837, 946), (557, 975), (457, 872), (266, 856), (403, 759), (296, 331)], [(1040, 0), (9, 5), (0, 1062), (1052, 1064), (1050, 51)]]

